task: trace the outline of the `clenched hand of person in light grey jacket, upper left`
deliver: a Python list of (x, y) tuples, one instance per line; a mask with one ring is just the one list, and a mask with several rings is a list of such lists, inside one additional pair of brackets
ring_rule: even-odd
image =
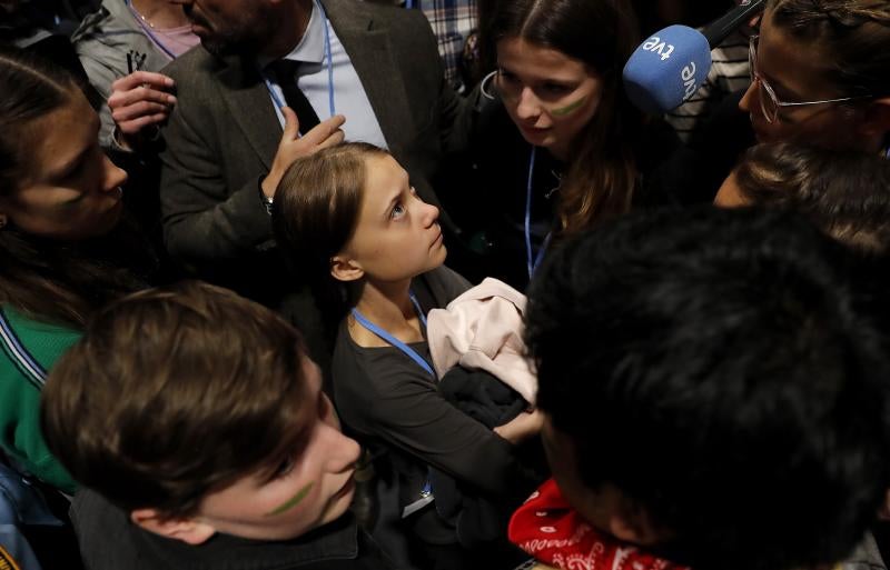
[(145, 128), (167, 120), (176, 104), (167, 92), (172, 87), (172, 79), (150, 71), (134, 71), (111, 83), (108, 107), (123, 139), (118, 142), (131, 147)]

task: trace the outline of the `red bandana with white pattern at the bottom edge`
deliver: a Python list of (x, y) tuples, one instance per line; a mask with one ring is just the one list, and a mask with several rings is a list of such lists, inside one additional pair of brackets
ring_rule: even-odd
[(510, 541), (563, 570), (688, 570), (591, 527), (550, 479), (510, 520)]

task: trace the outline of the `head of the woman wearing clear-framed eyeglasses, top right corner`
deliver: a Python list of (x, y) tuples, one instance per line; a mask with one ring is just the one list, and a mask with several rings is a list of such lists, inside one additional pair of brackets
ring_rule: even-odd
[(771, 0), (739, 107), (761, 142), (887, 152), (890, 2)]

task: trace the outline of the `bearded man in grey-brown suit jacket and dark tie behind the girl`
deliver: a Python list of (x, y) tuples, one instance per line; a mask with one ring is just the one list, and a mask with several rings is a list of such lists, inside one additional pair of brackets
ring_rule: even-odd
[[(316, 18), (324, 22), (325, 60), (332, 59), (333, 40), (334, 62), (342, 46), (360, 80), (324, 73), (334, 78), (326, 89), (337, 100), (336, 112), (345, 114), (347, 139), (354, 123), (378, 126), (377, 142), (406, 168), (424, 200), (438, 202), (431, 180), (443, 153), (463, 144), (466, 129), (458, 123), (466, 113), (445, 82), (421, 11), (358, 0), (174, 1), (202, 43), (164, 71), (176, 81), (178, 100), (164, 131), (160, 186), (165, 240), (175, 259), (268, 304), (293, 290), (280, 282), (286, 278), (264, 202), (293, 160), (340, 140), (343, 119), (328, 119), (334, 103), (313, 103), (323, 122), (295, 137), (295, 121), (276, 108), (280, 97), (273, 94), (264, 66), (299, 50)], [(350, 116), (339, 102), (350, 96), (346, 91), (358, 90), (368, 112)]]

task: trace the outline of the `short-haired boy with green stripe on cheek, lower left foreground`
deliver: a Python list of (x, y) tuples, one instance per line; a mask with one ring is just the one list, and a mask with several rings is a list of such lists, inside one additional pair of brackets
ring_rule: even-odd
[(134, 294), (43, 396), (88, 568), (389, 567), (347, 513), (359, 447), (268, 309), (196, 282)]

